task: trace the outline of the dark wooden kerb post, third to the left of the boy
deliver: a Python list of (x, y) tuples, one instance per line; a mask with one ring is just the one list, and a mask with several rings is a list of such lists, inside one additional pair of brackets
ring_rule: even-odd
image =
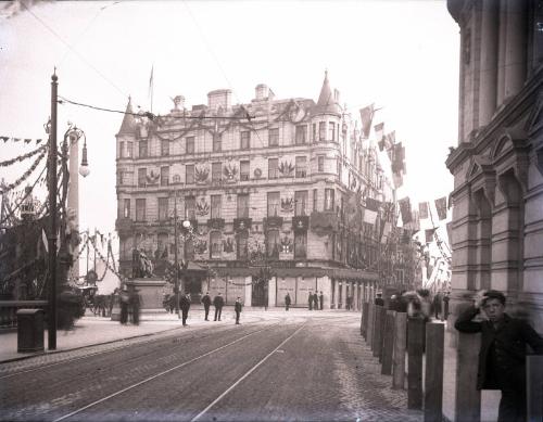
[(422, 409), (422, 348), (425, 321), (407, 321), (407, 409)]

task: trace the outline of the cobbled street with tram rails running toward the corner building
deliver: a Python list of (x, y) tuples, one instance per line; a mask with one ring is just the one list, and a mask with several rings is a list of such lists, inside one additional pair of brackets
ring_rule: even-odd
[(0, 365), (1, 420), (422, 420), (380, 374), (359, 314), (242, 316)]

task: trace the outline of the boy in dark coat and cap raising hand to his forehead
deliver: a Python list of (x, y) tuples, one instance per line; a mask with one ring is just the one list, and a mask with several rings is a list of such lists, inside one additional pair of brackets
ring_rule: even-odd
[[(489, 290), (458, 316), (454, 327), (463, 333), (481, 333), (477, 389), (501, 389), (498, 422), (520, 422), (526, 420), (526, 345), (543, 354), (543, 338), (504, 309), (504, 294)], [(481, 310), (488, 320), (473, 320)]]

